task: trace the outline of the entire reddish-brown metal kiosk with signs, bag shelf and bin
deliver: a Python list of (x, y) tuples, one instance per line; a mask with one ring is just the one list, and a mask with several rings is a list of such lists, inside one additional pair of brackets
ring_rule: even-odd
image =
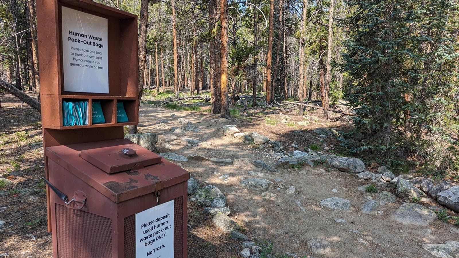
[(36, 4), (53, 256), (185, 258), (190, 174), (123, 139), (138, 123), (137, 17)]

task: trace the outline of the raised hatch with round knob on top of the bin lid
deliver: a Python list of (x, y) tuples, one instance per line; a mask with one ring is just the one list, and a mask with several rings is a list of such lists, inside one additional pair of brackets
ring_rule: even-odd
[[(69, 147), (83, 149), (80, 152), (81, 158), (108, 174), (131, 170), (134, 166), (141, 168), (161, 162), (161, 156), (128, 140), (114, 146), (93, 146), (93, 143), (87, 143)], [(123, 149), (132, 150), (132, 155), (123, 153)]]

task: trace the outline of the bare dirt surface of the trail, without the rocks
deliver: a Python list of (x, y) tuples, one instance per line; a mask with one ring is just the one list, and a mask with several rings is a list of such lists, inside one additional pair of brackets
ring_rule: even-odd
[[(182, 137), (212, 142), (211, 147), (186, 146), (180, 144), (182, 137), (179, 137), (176, 140), (178, 143), (173, 144), (172, 150), (167, 150), (162, 147), (164, 138), (159, 137), (157, 146), (162, 152), (173, 151), (184, 156), (201, 154), (208, 158), (261, 159), (269, 165), (277, 161), (269, 151), (259, 150), (256, 145), (244, 144), (234, 137), (224, 136), (223, 125), (237, 124), (241, 131), (255, 131), (268, 136), (271, 140), (279, 140), (283, 143), (291, 144), (297, 141), (300, 145), (299, 150), (310, 143), (320, 143), (319, 135), (312, 132), (315, 127), (340, 129), (349, 126), (346, 123), (319, 119), (308, 125), (309, 130), (302, 135), (295, 133), (297, 129), (280, 123), (275, 126), (267, 125), (263, 117), (253, 119), (252, 123), (240, 119), (231, 122), (209, 113), (174, 111), (149, 106), (142, 106), (140, 114), (140, 129), (144, 132), (159, 134), (170, 132), (172, 126), (183, 126), (178, 122), (178, 118), (184, 118), (201, 131), (188, 132)], [(289, 116), (293, 121), (302, 120), (295, 114), (289, 113)], [(160, 123), (163, 124), (159, 127), (164, 128), (157, 127)], [(329, 145), (335, 143), (332, 139), (326, 141)], [(407, 226), (391, 220), (389, 216), (403, 204), (399, 198), (395, 203), (381, 206), (378, 210), (382, 213), (361, 213), (360, 205), (366, 201), (364, 196), (378, 200), (377, 193), (358, 191), (356, 188), (368, 184), (368, 181), (359, 181), (357, 177), (334, 168), (307, 168), (303, 171), (304, 174), (299, 174), (294, 168), (282, 167), (277, 173), (270, 173), (260, 168), (237, 168), (202, 160), (189, 160), (181, 165), (201, 182), (215, 185), (224, 192), (231, 209), (230, 216), (243, 225), (249, 236), (253, 239), (269, 240), (274, 243), (276, 250), (281, 252), (290, 252), (300, 257), (310, 255), (306, 242), (312, 238), (324, 238), (330, 241), (332, 247), (331, 252), (324, 257), (428, 258), (431, 254), (422, 249), (422, 244), (457, 239), (457, 236), (448, 232), (448, 224), (439, 220), (435, 220), (427, 227)], [(265, 179), (273, 182), (274, 179), (282, 179), (280, 182), (274, 182), (274, 185), (281, 185), (284, 188), (278, 191), (276, 187), (271, 186), (268, 191), (275, 193), (276, 198), (265, 199), (260, 196), (261, 192), (247, 190), (238, 184), (242, 179), (252, 177), (249, 176), (249, 171), (263, 173)], [(226, 182), (218, 179), (222, 174), (229, 174), (230, 179)], [(297, 188), (297, 193), (294, 195), (284, 192), (291, 185)], [(333, 192), (333, 189), (338, 192)], [(393, 192), (392, 189), (387, 191)], [(333, 196), (350, 200), (351, 210), (336, 212), (319, 207), (321, 200)], [(347, 223), (339, 224), (335, 219), (344, 219)], [(365, 245), (359, 242), (359, 239), (369, 244)]]

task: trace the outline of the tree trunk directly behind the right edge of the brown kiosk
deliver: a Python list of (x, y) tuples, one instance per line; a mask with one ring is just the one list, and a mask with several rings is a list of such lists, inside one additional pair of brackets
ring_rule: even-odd
[[(139, 74), (137, 80), (137, 90), (139, 91), (138, 100), (139, 106), (142, 100), (143, 79), (145, 76), (146, 62), (146, 32), (148, 25), (148, 0), (140, 1), (140, 18), (139, 18)], [(129, 134), (137, 133), (137, 125), (129, 125)]]

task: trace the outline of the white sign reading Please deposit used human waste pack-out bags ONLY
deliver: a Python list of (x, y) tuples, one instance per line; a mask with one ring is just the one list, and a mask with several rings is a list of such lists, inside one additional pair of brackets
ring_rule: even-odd
[(174, 200), (135, 214), (135, 258), (174, 258)]

